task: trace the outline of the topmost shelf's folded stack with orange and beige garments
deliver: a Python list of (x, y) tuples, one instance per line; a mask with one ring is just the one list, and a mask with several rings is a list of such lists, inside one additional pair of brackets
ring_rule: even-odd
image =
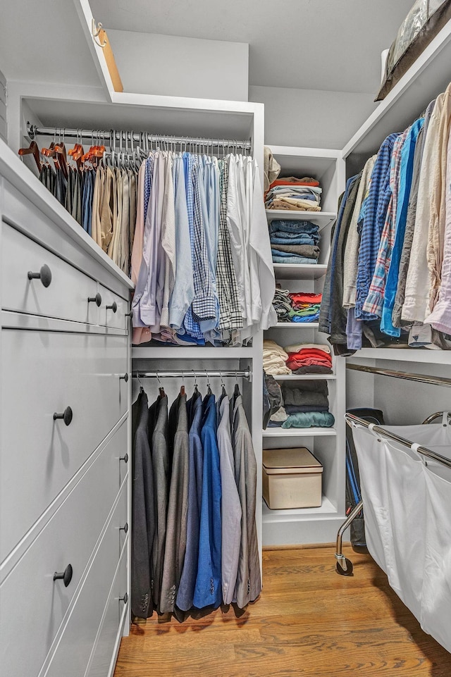
[(319, 182), (309, 176), (286, 176), (273, 181), (265, 197), (266, 209), (321, 211)]

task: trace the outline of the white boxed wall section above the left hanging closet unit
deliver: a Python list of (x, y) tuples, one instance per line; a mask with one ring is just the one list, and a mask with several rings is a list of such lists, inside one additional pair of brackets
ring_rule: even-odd
[(249, 45), (107, 29), (124, 92), (247, 101)]

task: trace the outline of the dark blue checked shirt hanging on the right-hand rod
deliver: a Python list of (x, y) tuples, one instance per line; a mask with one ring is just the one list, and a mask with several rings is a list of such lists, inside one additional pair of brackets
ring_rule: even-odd
[(371, 280), (373, 279), (376, 259), (385, 217), (387, 216), (388, 203), (390, 201), (390, 165), (393, 145), (399, 137), (398, 133), (390, 134), (378, 151), (376, 163), (371, 174), (371, 187), (368, 200), (365, 205), (364, 221), (362, 224), (362, 237), (359, 247), (359, 262), (357, 267), (357, 292), (355, 299), (355, 317), (364, 320), (373, 320), (377, 316), (365, 313), (364, 302), (369, 294)]

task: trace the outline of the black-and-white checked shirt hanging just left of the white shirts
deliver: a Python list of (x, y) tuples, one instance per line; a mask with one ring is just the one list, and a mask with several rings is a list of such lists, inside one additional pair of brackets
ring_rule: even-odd
[(218, 166), (220, 170), (219, 194), (221, 196), (221, 208), (219, 212), (216, 286), (220, 308), (219, 329), (226, 331), (242, 328), (242, 314), (232, 250), (230, 249), (230, 235), (227, 228), (228, 166), (223, 160), (218, 162)]

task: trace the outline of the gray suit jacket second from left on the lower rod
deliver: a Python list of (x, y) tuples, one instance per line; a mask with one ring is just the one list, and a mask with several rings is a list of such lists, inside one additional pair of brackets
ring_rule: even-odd
[(152, 466), (154, 468), (154, 495), (156, 529), (152, 563), (154, 573), (154, 605), (160, 610), (161, 579), (163, 578), (164, 546), (166, 543), (166, 513), (169, 494), (168, 457), (168, 397), (157, 400), (156, 423), (152, 434)]

